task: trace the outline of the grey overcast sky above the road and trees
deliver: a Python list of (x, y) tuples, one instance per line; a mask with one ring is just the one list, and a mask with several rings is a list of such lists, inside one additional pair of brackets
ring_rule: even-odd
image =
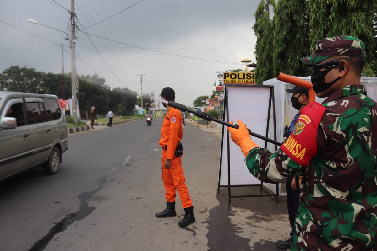
[[(80, 30), (76, 31), (77, 73), (97, 73), (111, 88), (127, 87), (138, 94), (143, 75), (143, 93), (154, 92), (158, 100), (162, 88), (169, 86), (175, 90), (176, 102), (192, 106), (196, 97), (210, 96), (215, 90), (216, 71), (244, 69), (242, 59), (255, 62), (252, 26), (259, 2), (75, 0)], [(64, 44), (64, 72), (70, 72), (69, 41), (58, 31), (71, 35), (70, 4), (70, 0), (2, 0), (0, 72), (11, 65), (26, 65), (61, 73), (60, 44)], [(58, 30), (30, 23), (28, 18)], [(84, 30), (113, 41), (89, 35), (93, 46)]]

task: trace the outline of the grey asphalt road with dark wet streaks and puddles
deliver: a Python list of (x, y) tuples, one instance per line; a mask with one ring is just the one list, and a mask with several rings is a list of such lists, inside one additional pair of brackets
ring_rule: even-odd
[[(40, 168), (0, 183), (2, 251), (281, 250), (289, 233), (284, 198), (234, 198), (217, 193), (216, 135), (186, 123), (182, 163), (196, 222), (155, 218), (165, 208), (161, 119), (99, 127), (69, 135), (60, 172)], [(248, 188), (250, 189), (250, 188)]]

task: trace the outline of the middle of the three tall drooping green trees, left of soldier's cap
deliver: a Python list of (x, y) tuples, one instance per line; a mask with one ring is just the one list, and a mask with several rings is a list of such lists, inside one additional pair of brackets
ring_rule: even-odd
[(311, 75), (300, 58), (310, 47), (309, 6), (307, 0), (279, 0), (274, 14), (273, 76), (282, 72), (292, 76)]

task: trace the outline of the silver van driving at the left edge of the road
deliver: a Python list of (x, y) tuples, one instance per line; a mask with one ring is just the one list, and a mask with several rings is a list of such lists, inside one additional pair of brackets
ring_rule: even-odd
[(35, 166), (57, 173), (67, 149), (57, 96), (0, 91), (0, 180)]

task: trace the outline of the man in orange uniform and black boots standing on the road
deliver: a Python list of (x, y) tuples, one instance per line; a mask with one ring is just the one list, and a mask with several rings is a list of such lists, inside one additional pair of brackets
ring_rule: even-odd
[(184, 218), (178, 222), (179, 226), (187, 226), (195, 222), (194, 207), (190, 199), (189, 190), (185, 185), (185, 176), (183, 175), (181, 158), (176, 157), (175, 150), (177, 143), (183, 136), (182, 115), (181, 112), (169, 105), (169, 101), (175, 100), (175, 92), (170, 87), (165, 87), (161, 91), (162, 104), (168, 108), (164, 122), (162, 122), (161, 139), (158, 142), (162, 147), (162, 180), (165, 187), (166, 208), (161, 213), (156, 213), (156, 217), (174, 217), (175, 197), (178, 191), (179, 198), (182, 201), (182, 207), (185, 210)]

